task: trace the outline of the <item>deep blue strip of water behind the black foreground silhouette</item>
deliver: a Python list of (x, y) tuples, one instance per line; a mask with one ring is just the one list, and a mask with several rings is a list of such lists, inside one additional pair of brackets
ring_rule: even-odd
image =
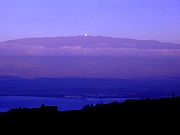
[(60, 111), (80, 110), (88, 104), (123, 102), (126, 98), (47, 98), (25, 96), (0, 96), (0, 112), (14, 108), (38, 108), (41, 104), (58, 106)]

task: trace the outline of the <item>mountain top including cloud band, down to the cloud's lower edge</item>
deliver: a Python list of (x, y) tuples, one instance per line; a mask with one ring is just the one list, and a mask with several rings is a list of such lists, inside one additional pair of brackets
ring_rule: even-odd
[(25, 38), (0, 43), (2, 55), (178, 55), (180, 45), (102, 36)]

